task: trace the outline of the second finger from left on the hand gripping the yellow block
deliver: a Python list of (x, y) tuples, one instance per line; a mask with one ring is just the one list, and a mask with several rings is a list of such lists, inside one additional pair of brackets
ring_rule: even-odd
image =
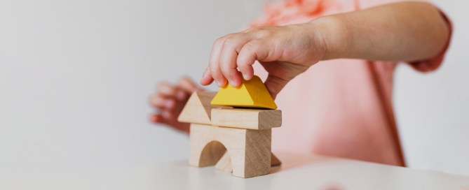
[(210, 67), (210, 74), (212, 78), (217, 82), (218, 87), (224, 87), (226, 85), (226, 78), (224, 78), (222, 70), (219, 65), (219, 57), (222, 52), (223, 43), (226, 36), (218, 38), (213, 43), (212, 52), (210, 53), (210, 61), (208, 63)]

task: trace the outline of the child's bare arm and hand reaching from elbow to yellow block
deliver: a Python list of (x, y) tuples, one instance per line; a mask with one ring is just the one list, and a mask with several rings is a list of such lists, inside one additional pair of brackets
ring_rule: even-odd
[[(257, 27), (215, 41), (200, 84), (215, 81), (238, 87), (250, 80), (259, 61), (265, 82), (276, 94), (309, 66), (327, 59), (420, 61), (437, 56), (449, 43), (449, 25), (430, 3), (407, 1), (319, 17), (305, 24)], [(239, 71), (238, 71), (239, 69)]]

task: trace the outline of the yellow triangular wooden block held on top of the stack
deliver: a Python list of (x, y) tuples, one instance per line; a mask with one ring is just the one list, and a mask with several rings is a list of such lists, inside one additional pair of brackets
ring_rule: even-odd
[(273, 98), (264, 82), (254, 75), (251, 80), (243, 80), (240, 87), (226, 85), (212, 99), (212, 105), (229, 105), (233, 107), (277, 109)]

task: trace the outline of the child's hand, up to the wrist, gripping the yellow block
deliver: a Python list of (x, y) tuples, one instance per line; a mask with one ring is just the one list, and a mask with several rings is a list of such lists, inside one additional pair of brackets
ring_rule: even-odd
[(212, 47), (200, 84), (210, 85), (215, 79), (219, 87), (227, 82), (238, 87), (242, 77), (252, 78), (252, 64), (259, 61), (269, 72), (265, 85), (275, 98), (287, 82), (324, 56), (325, 44), (315, 28), (310, 23), (256, 27), (223, 36)]

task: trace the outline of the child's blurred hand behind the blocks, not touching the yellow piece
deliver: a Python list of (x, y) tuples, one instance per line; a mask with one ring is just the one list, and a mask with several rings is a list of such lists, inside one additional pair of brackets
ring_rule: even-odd
[(177, 117), (189, 96), (199, 89), (196, 82), (190, 78), (182, 78), (177, 85), (161, 82), (158, 84), (156, 94), (153, 94), (149, 99), (151, 105), (159, 110), (158, 113), (151, 116), (151, 121), (189, 133), (189, 124), (177, 122)]

